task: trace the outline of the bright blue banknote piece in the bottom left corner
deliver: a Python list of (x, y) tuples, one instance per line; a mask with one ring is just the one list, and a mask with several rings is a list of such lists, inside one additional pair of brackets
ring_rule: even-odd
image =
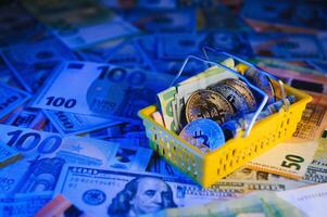
[(34, 216), (52, 199), (52, 192), (0, 196), (0, 216)]

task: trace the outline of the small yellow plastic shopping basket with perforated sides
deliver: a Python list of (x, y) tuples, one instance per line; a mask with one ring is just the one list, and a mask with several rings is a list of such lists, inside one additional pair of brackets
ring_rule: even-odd
[[(254, 67), (257, 73), (265, 73), (236, 56), (228, 54), (228, 58), (232, 58), (238, 62), (236, 67), (239, 71)], [(216, 67), (226, 68), (226, 66), (217, 63), (215, 65)], [(291, 105), (285, 104), (278, 113), (274, 113), (255, 124), (255, 119), (253, 119), (253, 126), (238, 133), (236, 138), (228, 140), (219, 149), (205, 154), (179, 138), (175, 132), (154, 122), (151, 114), (158, 111), (155, 105), (142, 108), (138, 115), (146, 127), (150, 146), (167, 162), (206, 188), (282, 140), (292, 137), (297, 124), (301, 119), (302, 112), (312, 98), (292, 87), (284, 86), (280, 80), (272, 79), (272, 84), (275, 89), (280, 90), (281, 88), (280, 91), (276, 92), (278, 99), (293, 94), (297, 101)], [(260, 112), (257, 111), (257, 114)]]

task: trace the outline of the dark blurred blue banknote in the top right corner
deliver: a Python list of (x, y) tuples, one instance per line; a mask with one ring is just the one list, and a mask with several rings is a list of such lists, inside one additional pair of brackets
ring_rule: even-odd
[(282, 0), (250, 0), (242, 8), (242, 16), (278, 26), (284, 31), (315, 33), (327, 27), (325, 10), (326, 4), (319, 1), (300, 1), (293, 7), (292, 2)]

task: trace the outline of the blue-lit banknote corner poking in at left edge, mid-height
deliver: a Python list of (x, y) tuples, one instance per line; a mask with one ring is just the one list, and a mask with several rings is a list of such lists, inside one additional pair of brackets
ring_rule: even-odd
[(29, 98), (29, 93), (0, 82), (0, 118), (25, 103)]

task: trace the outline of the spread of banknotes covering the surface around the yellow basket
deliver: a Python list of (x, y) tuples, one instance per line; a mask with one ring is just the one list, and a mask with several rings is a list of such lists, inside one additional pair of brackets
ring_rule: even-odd
[[(2, 0), (0, 33), (0, 216), (324, 216), (325, 1)], [(137, 116), (171, 103), (203, 47), (313, 97), (291, 140), (209, 189), (149, 148)]]

